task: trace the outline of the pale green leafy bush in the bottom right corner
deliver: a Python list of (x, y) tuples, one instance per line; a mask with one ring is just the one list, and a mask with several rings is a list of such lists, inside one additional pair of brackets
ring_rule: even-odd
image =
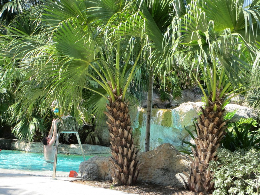
[(231, 152), (218, 150), (218, 161), (210, 162), (214, 173), (215, 191), (213, 195), (259, 195), (260, 151), (238, 149)]

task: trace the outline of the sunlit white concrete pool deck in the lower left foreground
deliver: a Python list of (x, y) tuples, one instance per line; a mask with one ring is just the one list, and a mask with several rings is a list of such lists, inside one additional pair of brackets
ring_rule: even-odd
[(51, 180), (52, 171), (22, 171), (0, 168), (1, 195), (136, 195), (116, 190), (97, 188), (70, 182), (80, 179), (68, 177), (69, 173), (56, 172)]

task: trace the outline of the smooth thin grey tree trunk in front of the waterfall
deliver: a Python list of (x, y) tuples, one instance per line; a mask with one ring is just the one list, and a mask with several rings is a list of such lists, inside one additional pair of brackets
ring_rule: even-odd
[(149, 71), (149, 86), (147, 94), (147, 119), (145, 131), (145, 152), (150, 150), (150, 129), (151, 129), (151, 116), (152, 116), (152, 102), (153, 102), (153, 69)]

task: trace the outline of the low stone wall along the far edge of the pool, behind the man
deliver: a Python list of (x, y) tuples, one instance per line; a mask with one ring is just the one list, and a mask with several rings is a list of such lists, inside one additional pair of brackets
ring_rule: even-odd
[[(54, 145), (54, 147), (56, 147), (56, 144)], [(108, 155), (110, 155), (109, 147), (82, 144), (82, 148), (83, 148), (84, 154), (86, 156), (108, 156)], [(21, 141), (21, 140), (12, 140), (10, 149), (27, 151), (27, 152), (43, 153), (43, 145), (41, 142), (29, 143), (29, 142)], [(81, 150), (80, 150), (78, 144), (66, 145), (66, 144), (59, 143), (58, 153), (66, 153), (69, 155), (71, 155), (71, 154), (81, 155)]]

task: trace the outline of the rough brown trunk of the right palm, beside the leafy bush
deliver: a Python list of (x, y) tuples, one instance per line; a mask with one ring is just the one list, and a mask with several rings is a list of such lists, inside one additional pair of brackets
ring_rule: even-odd
[(202, 113), (195, 123), (198, 137), (194, 140), (195, 150), (192, 148), (194, 160), (190, 157), (190, 175), (184, 172), (188, 179), (188, 184), (184, 181), (185, 185), (194, 192), (209, 193), (214, 189), (213, 174), (208, 170), (209, 162), (217, 159), (217, 148), (227, 128), (223, 121), (224, 99), (219, 98), (219, 94), (220, 92), (217, 92), (215, 102), (210, 101), (212, 96), (208, 98), (209, 105), (205, 109), (201, 107)]

